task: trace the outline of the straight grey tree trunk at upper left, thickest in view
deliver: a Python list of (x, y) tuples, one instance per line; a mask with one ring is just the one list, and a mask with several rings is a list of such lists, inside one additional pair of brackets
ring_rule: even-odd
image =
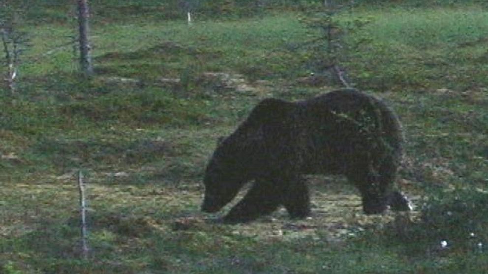
[(78, 0), (78, 27), (80, 35), (80, 65), (83, 73), (90, 76), (93, 74), (91, 65), (90, 42), (88, 40), (89, 24), (88, 0)]

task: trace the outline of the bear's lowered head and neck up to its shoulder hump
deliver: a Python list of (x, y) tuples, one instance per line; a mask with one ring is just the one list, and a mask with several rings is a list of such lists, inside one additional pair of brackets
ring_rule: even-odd
[(269, 143), (277, 142), (277, 130), (294, 109), (292, 103), (278, 99), (263, 100), (239, 128), (219, 138), (204, 177), (202, 211), (217, 212), (229, 203), (241, 187), (269, 169)]

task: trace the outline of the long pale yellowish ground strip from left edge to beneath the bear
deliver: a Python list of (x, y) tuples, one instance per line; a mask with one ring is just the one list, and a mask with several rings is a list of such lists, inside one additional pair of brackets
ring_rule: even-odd
[[(203, 187), (195, 182), (174, 187), (141, 187), (130, 184), (117, 185), (116, 181), (123, 178), (115, 177), (112, 178), (111, 184), (106, 185), (104, 182), (107, 175), (100, 174), (99, 178), (93, 175), (87, 187), (90, 204), (88, 217), (92, 222), (92, 228), (101, 229), (107, 225), (108, 228), (105, 229), (128, 235), (137, 236), (149, 231), (201, 231), (212, 235), (219, 233), (221, 229), (231, 229), (236, 235), (257, 239), (289, 241), (312, 237), (338, 242), (354, 237), (361, 231), (381, 228), (387, 224), (401, 227), (401, 221), (409, 222), (418, 216), (415, 208), (409, 214), (387, 211), (383, 215), (366, 216), (362, 211), (360, 196), (345, 180), (311, 178), (310, 218), (290, 219), (284, 209), (279, 209), (270, 216), (249, 223), (226, 225), (219, 223), (218, 219), (242, 198), (245, 190), (223, 211), (208, 215), (199, 210)], [(9, 189), (10, 194), (15, 194), (19, 198), (30, 197), (35, 203), (43, 202), (50, 205), (51, 209), (46, 209), (46, 212), (29, 211), (29, 216), (32, 215), (28, 218), (30, 221), (27, 221), (26, 217), (19, 218), (20, 214), (25, 215), (23, 211), (18, 212), (19, 215), (12, 213), (15, 216), (11, 216), (11, 219), (20, 219), (21, 223), (12, 221), (0, 225), (0, 235), (12, 236), (35, 229), (39, 218), (45, 218), (46, 214), (56, 214), (66, 208), (72, 210), (72, 217), (76, 219), (77, 192), (73, 180), (72, 176), (53, 176), (49, 182), (25, 185), (24, 188), (24, 185), (16, 185), (15, 190)], [(409, 193), (407, 195), (414, 205), (420, 203), (419, 196)], [(4, 220), (5, 217), (3, 216)]]

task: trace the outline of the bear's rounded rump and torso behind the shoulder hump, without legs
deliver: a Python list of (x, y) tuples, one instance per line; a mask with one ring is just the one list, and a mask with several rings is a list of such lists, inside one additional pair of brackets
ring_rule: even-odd
[(395, 158), (401, 154), (403, 138), (397, 116), (373, 96), (340, 89), (296, 104), (307, 138), (307, 169), (327, 166), (329, 172), (342, 173), (353, 159), (363, 157), (360, 152), (383, 154), (393, 148)]

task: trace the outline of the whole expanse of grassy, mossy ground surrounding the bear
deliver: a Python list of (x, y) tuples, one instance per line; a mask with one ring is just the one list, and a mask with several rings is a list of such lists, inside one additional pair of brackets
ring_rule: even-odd
[[(155, 17), (151, 3), (151, 16), (130, 20), (94, 7), (90, 81), (61, 46), (74, 29), (67, 10), (37, 11), (49, 20), (29, 28), (18, 92), (1, 91), (0, 273), (488, 271), (482, 6), (337, 15), (369, 22), (346, 33), (341, 60), (401, 117), (408, 141), (397, 183), (416, 206), (411, 216), (366, 217), (343, 178), (310, 177), (312, 219), (279, 211), (227, 226), (199, 212), (216, 138), (262, 98), (304, 99), (336, 84), (309, 76), (320, 74), (303, 45), (318, 33), (299, 12), (187, 26)], [(79, 169), (89, 188), (88, 261), (79, 254)]]

